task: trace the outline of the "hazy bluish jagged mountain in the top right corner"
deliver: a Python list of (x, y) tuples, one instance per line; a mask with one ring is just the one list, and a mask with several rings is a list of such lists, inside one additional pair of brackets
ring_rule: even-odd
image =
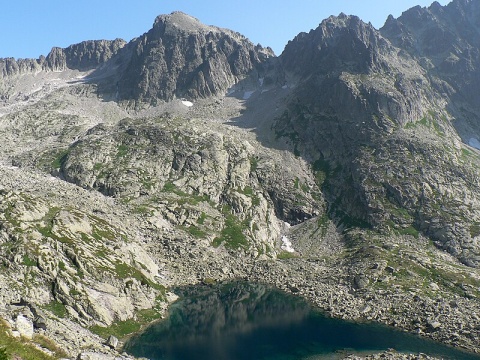
[(480, 6), (454, 0), (434, 2), (389, 17), (380, 29), (392, 44), (415, 57), (433, 79), (433, 87), (448, 96), (455, 127), (465, 141), (479, 136)]

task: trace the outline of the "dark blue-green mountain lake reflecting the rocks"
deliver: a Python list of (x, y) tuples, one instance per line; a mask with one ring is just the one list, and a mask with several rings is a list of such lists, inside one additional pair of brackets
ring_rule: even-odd
[(125, 350), (154, 360), (337, 359), (393, 348), (444, 359), (480, 359), (378, 324), (327, 318), (305, 301), (261, 284), (177, 289), (169, 316), (130, 339)]

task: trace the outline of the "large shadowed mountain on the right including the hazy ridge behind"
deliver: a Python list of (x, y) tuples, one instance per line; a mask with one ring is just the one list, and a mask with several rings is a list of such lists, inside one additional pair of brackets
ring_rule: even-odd
[[(472, 132), (478, 123), (462, 120), (458, 106), (474, 112), (479, 102), (477, 20), (467, 16), (476, 11), (465, 1), (417, 7), (382, 31), (341, 14), (298, 35), (279, 59), (296, 86), (272, 126), (326, 175), (322, 189), (339, 223), (411, 226), (469, 265), (480, 255), (470, 231), (479, 220), (478, 161), (462, 161), (458, 129)], [(447, 72), (455, 46), (462, 59)], [(447, 183), (472, 204), (444, 211)]]

